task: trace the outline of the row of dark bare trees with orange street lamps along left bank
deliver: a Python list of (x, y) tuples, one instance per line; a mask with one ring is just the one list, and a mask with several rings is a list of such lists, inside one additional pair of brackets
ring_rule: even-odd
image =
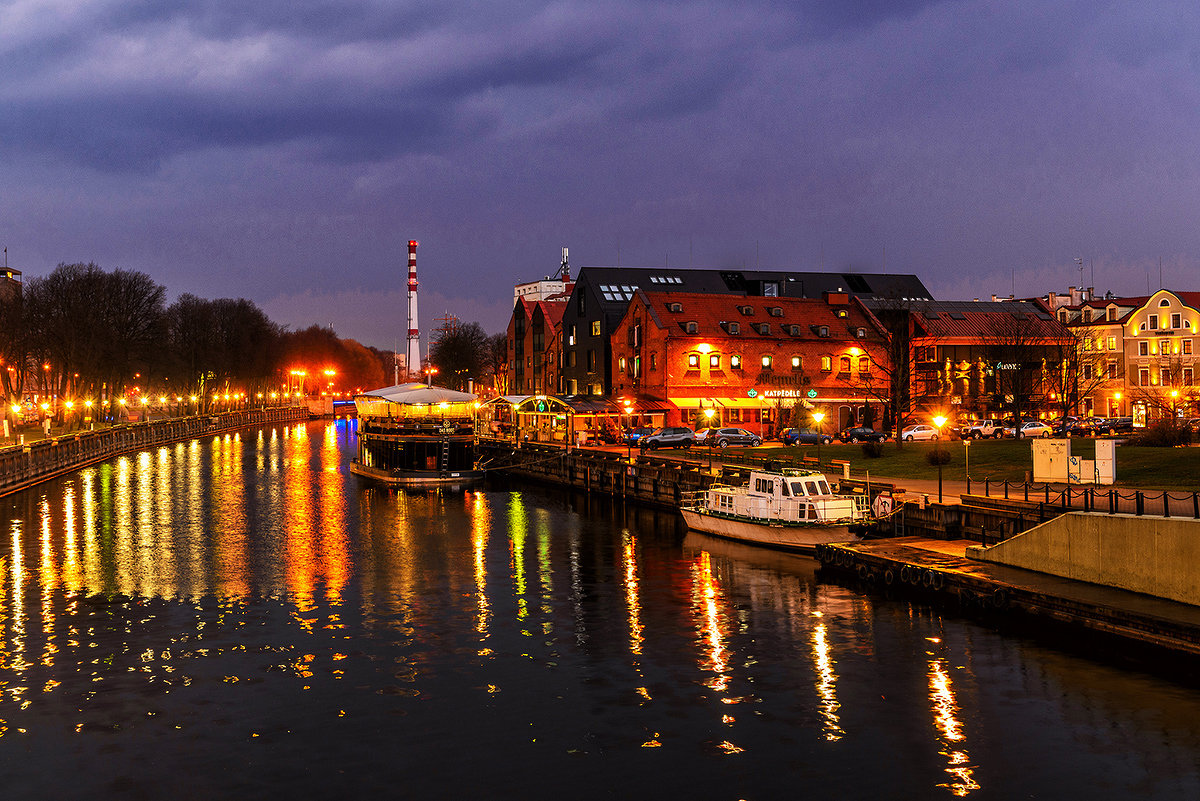
[[(338, 338), (332, 329), (289, 331), (245, 299), (205, 300), (167, 290), (142, 272), (60, 264), (0, 293), (0, 385), (13, 404), (38, 399), (98, 404), (130, 395), (214, 393), (256, 398), (392, 383), (394, 355)], [(304, 369), (299, 378), (293, 371)], [(325, 369), (336, 375), (325, 375)]]

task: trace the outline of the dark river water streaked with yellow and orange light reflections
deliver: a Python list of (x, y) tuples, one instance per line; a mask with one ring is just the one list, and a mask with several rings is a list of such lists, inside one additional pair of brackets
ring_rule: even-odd
[(1196, 799), (1200, 689), (344, 422), (0, 501), (13, 799)]

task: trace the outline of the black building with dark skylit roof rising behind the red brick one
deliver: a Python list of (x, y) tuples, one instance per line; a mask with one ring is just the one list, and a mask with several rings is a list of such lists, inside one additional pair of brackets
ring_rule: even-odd
[(563, 391), (566, 395), (612, 392), (610, 337), (638, 289), (797, 300), (821, 300), (827, 293), (905, 302), (930, 297), (924, 284), (911, 275), (583, 267), (563, 314)]

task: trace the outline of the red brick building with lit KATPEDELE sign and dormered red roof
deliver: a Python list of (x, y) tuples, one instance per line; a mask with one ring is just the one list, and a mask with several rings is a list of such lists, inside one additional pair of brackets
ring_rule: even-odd
[[(821, 410), (824, 430), (882, 417), (878, 321), (848, 294), (823, 299), (638, 290), (612, 335), (612, 397), (668, 402), (666, 424), (770, 435)], [(881, 386), (881, 383), (882, 386)]]

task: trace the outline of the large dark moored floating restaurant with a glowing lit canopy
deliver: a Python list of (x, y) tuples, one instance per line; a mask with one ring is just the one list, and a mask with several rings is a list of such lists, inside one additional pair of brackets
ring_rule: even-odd
[(397, 487), (479, 481), (475, 396), (401, 384), (355, 396), (359, 447), (350, 472)]

